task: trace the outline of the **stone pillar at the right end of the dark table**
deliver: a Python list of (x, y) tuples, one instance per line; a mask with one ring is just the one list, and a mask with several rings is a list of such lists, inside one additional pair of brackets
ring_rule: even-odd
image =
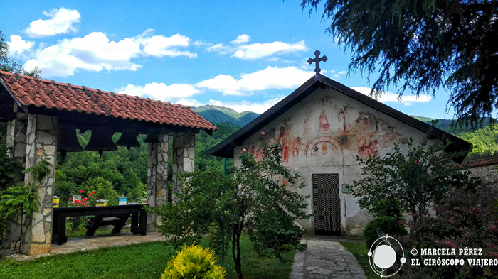
[[(149, 143), (147, 160), (147, 202), (157, 207), (168, 202), (168, 135), (159, 134), (160, 143)], [(156, 231), (152, 223), (159, 222), (154, 214), (147, 215), (147, 231)]]

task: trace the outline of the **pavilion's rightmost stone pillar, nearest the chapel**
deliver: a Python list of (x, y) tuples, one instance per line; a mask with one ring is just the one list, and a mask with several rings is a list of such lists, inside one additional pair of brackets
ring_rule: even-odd
[(194, 155), (196, 146), (196, 135), (189, 132), (175, 133), (173, 136), (173, 200), (174, 192), (181, 191), (179, 173), (194, 172)]

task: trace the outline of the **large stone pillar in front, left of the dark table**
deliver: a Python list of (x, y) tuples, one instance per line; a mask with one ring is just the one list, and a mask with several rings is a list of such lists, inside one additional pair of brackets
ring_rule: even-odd
[(48, 253), (52, 242), (52, 204), (55, 191), (55, 160), (57, 158), (57, 119), (52, 116), (28, 114), (26, 127), (26, 168), (41, 160), (48, 161), (50, 173), (41, 182), (35, 181), (31, 172), (24, 182), (38, 186), (40, 205), (33, 218), (23, 224), (22, 251), (26, 255)]

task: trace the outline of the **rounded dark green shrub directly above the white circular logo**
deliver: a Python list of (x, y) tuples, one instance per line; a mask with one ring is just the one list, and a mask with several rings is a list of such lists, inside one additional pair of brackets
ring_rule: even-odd
[(383, 235), (406, 236), (405, 226), (400, 224), (396, 217), (381, 216), (369, 221), (363, 231), (366, 247), (370, 248), (373, 242)]

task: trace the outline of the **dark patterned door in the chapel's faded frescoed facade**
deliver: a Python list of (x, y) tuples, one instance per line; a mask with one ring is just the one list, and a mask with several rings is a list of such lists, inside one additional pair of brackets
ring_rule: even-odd
[(314, 234), (341, 235), (341, 199), (339, 174), (312, 175)]

